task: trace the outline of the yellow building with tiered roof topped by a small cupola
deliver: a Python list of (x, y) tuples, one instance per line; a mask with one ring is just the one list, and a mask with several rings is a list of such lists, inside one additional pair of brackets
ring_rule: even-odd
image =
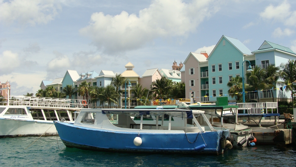
[[(126, 81), (126, 79), (130, 80), (131, 86), (128, 86), (128, 81), (122, 86), (120, 86), (120, 90), (122, 91), (121, 97), (120, 97), (120, 102), (121, 102), (120, 106), (121, 108), (125, 107), (125, 94), (126, 94), (126, 97), (128, 98), (126, 100), (126, 108), (134, 108), (137, 105), (137, 101), (133, 99), (135, 92), (133, 92), (132, 89), (134, 89), (137, 86), (137, 84), (139, 84), (140, 76), (133, 70), (135, 66), (131, 64), (131, 62), (128, 62), (128, 64), (126, 64), (124, 67), (126, 67), (126, 70), (123, 73), (121, 73), (121, 75), (124, 77), (124, 81)], [(126, 88), (126, 92), (125, 92), (125, 88)]]

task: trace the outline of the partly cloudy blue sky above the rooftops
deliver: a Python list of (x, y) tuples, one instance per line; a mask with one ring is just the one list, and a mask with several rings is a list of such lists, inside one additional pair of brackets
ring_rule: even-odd
[(67, 70), (171, 69), (190, 52), (210, 54), (222, 35), (251, 51), (267, 40), (296, 52), (292, 0), (0, 0), (0, 11), (0, 82), (14, 96)]

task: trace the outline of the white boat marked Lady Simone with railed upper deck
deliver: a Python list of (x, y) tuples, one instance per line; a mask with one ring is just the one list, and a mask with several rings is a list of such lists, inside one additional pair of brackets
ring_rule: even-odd
[(86, 100), (23, 96), (10, 98), (0, 102), (0, 138), (57, 135), (54, 121), (74, 121), (81, 108), (88, 108)]

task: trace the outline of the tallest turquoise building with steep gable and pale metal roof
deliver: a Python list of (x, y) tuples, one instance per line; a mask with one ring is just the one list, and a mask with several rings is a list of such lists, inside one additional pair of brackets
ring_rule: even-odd
[[(238, 39), (222, 35), (207, 58), (210, 101), (216, 101), (217, 95), (228, 94), (227, 83), (232, 77), (242, 76), (242, 63), (246, 59), (249, 59), (251, 66), (255, 65), (255, 56), (250, 49)], [(244, 64), (249, 66), (248, 63)], [(228, 96), (228, 100), (235, 101), (235, 98)]]

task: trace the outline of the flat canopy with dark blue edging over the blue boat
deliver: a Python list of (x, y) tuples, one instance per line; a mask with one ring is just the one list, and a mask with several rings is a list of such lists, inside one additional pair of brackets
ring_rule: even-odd
[(154, 115), (160, 116), (163, 114), (182, 117), (193, 118), (192, 110), (181, 109), (102, 109), (102, 114), (126, 114), (129, 116)]

